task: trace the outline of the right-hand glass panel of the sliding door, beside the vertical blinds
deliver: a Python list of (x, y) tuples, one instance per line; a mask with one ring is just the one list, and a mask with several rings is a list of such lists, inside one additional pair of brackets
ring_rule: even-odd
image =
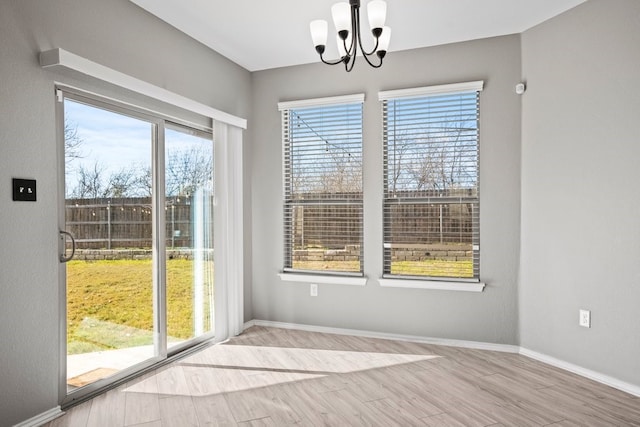
[(213, 331), (211, 134), (165, 129), (167, 334), (170, 348)]

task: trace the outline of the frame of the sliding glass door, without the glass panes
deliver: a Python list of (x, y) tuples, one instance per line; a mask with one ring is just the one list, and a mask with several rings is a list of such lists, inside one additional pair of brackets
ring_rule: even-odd
[[(58, 230), (65, 230), (65, 135), (64, 135), (64, 100), (71, 99), (96, 108), (122, 114), (149, 123), (152, 126), (151, 138), (151, 168), (152, 168), (152, 275), (153, 275), (153, 342), (154, 356), (143, 362), (125, 368), (108, 378), (98, 380), (79, 389), (68, 391), (67, 388), (67, 298), (66, 298), (66, 265), (59, 263), (58, 268), (58, 301), (59, 301), (59, 402), (61, 407), (69, 407), (91, 399), (102, 391), (121, 384), (130, 378), (140, 375), (147, 370), (166, 362), (169, 357), (180, 352), (193, 349), (195, 346), (214, 338), (215, 330), (202, 336), (188, 340), (184, 344), (172, 347), (167, 351), (167, 301), (166, 301), (166, 216), (165, 205), (165, 127), (176, 125), (191, 128), (212, 135), (212, 144), (215, 150), (213, 131), (211, 128), (199, 126), (194, 123), (162, 115), (155, 111), (146, 110), (124, 102), (118, 102), (111, 98), (89, 93), (69, 86), (56, 84), (55, 86), (55, 119), (56, 119), (56, 144), (57, 144), (57, 169), (58, 169)], [(214, 164), (215, 170), (215, 164)], [(65, 243), (58, 239), (58, 257), (64, 252)]]

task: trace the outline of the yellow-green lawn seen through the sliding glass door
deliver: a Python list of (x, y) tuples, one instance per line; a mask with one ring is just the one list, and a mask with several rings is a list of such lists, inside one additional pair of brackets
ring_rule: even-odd
[[(170, 339), (192, 337), (192, 283), (193, 261), (167, 260)], [(151, 260), (70, 261), (67, 264), (67, 352), (152, 344), (152, 293)]]

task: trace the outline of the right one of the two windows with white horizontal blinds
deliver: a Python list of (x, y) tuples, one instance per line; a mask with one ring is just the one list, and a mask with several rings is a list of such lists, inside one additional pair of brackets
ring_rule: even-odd
[(482, 82), (380, 93), (384, 276), (478, 281)]

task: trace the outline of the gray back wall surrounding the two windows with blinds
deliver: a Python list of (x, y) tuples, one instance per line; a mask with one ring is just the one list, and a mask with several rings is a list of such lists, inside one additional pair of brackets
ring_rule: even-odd
[[(520, 221), (520, 37), (391, 53), (378, 70), (311, 64), (255, 72), (251, 137), (254, 318), (426, 337), (517, 344)], [(378, 91), (484, 80), (481, 94), (483, 293), (382, 288), (382, 126)], [(366, 94), (366, 287), (281, 282), (282, 142), (279, 101)], [(260, 256), (257, 256), (260, 254)]]

